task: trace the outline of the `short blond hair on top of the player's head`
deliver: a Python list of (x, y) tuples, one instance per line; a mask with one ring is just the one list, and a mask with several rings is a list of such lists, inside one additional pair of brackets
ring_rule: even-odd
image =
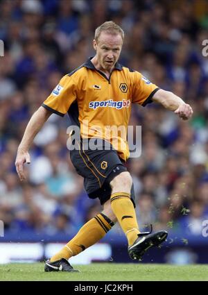
[(122, 37), (122, 40), (124, 40), (124, 32), (121, 26), (118, 26), (114, 22), (110, 21), (110, 22), (104, 22), (103, 24), (101, 24), (101, 26), (98, 26), (98, 28), (96, 28), (96, 31), (94, 34), (94, 39), (96, 40), (96, 42), (98, 42), (98, 38), (101, 35), (101, 32), (103, 31), (110, 33), (111, 35), (120, 34)]

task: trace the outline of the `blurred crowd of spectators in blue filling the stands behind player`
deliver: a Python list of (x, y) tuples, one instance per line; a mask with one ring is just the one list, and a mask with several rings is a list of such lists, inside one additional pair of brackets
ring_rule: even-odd
[(35, 137), (26, 183), (15, 156), (33, 112), (64, 74), (94, 56), (94, 30), (106, 20), (125, 31), (121, 64), (194, 111), (182, 121), (154, 103), (132, 108), (130, 125), (142, 126), (141, 157), (127, 163), (139, 224), (201, 235), (208, 219), (206, 0), (0, 1), (0, 220), (12, 232), (69, 234), (100, 211), (71, 165), (67, 115), (51, 115)]

